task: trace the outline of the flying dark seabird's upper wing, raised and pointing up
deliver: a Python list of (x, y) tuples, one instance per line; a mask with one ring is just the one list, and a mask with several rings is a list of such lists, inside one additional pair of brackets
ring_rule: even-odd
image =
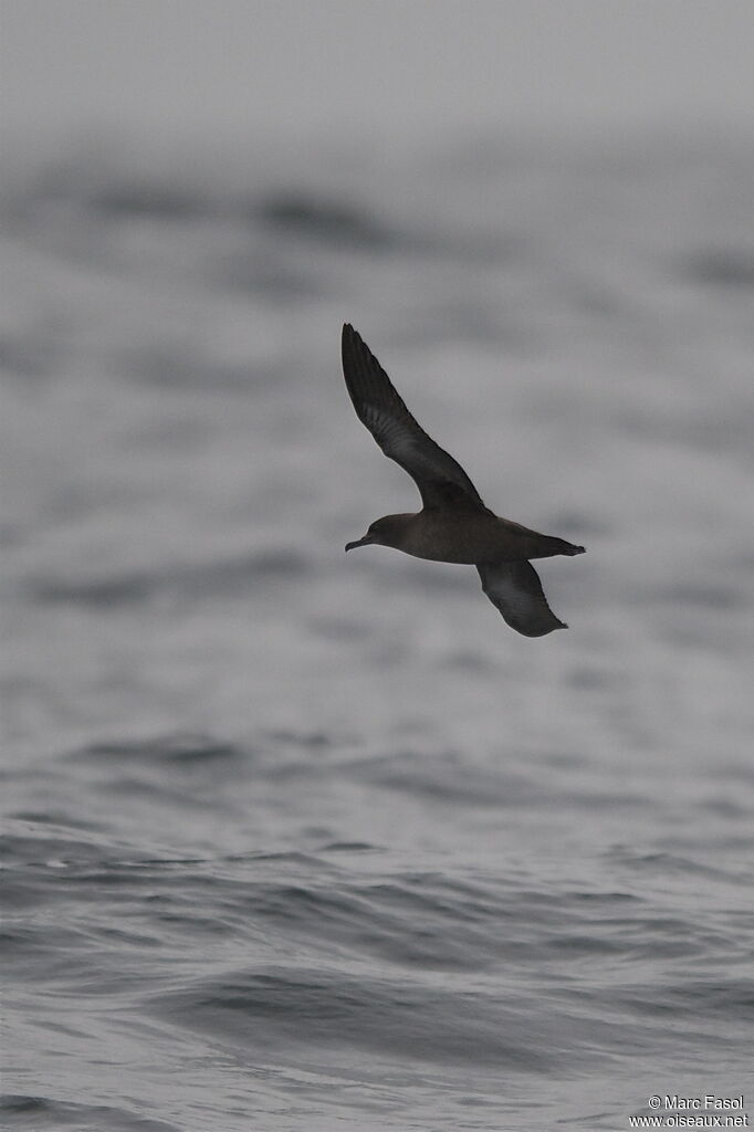
[(427, 509), (485, 509), (479, 492), (453, 456), (417, 423), (358, 331), (343, 327), (343, 374), (357, 415), (386, 456), (415, 481)]

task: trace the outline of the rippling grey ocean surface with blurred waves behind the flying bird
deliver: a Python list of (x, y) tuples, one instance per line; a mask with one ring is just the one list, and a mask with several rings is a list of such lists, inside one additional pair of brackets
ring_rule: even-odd
[[(10, 157), (3, 1126), (754, 1118), (751, 146)], [(343, 554), (344, 320), (568, 632)]]

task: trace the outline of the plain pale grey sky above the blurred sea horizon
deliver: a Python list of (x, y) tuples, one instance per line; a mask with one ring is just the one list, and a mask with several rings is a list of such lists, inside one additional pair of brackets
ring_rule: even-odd
[(754, 0), (0, 0), (6, 129), (754, 120)]

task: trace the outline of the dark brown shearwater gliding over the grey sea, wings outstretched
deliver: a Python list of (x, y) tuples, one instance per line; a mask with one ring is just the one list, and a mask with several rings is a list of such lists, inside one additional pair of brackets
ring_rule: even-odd
[(530, 637), (567, 628), (548, 606), (529, 559), (582, 555), (584, 548), (495, 515), (461, 465), (417, 423), (349, 323), (342, 351), (345, 385), (359, 420), (385, 455), (415, 481), (423, 505), (417, 515), (375, 520), (365, 537), (345, 549), (374, 542), (414, 558), (475, 566), (482, 590), (511, 628)]

